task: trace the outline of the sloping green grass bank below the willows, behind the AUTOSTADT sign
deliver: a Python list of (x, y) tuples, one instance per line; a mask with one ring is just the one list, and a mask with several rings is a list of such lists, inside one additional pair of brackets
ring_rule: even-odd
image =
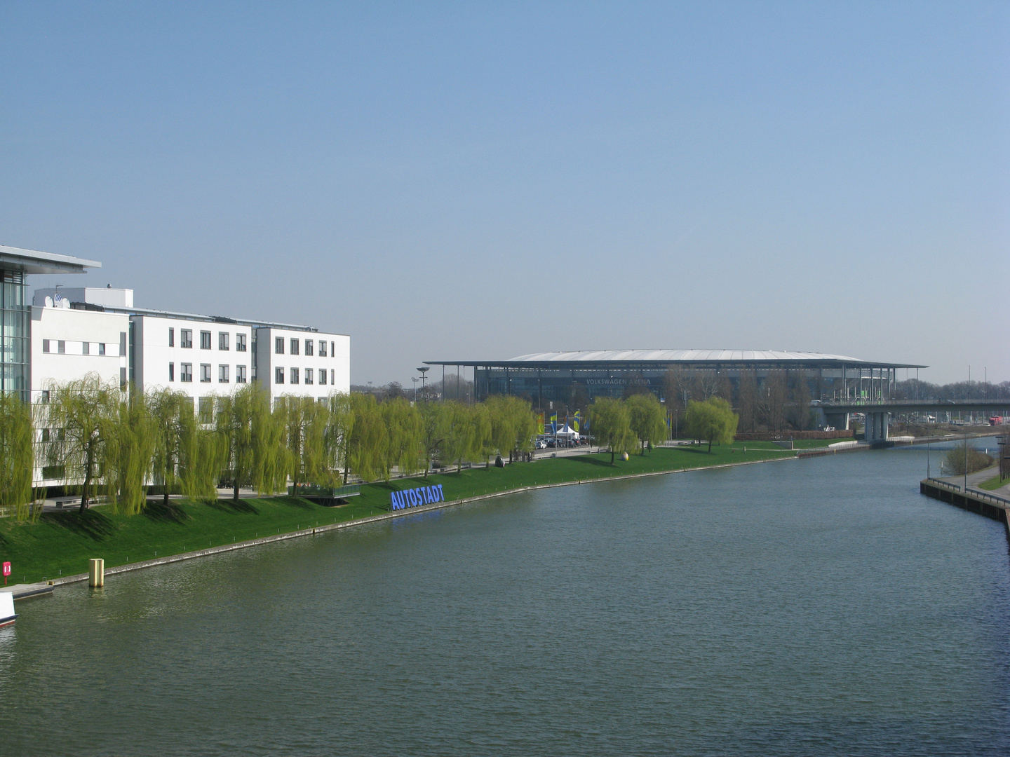
[[(790, 456), (792, 452), (747, 443), (746, 453), (733, 447), (693, 446), (654, 449), (632, 454), (627, 461), (610, 464), (610, 455), (544, 458), (535, 462), (472, 468), (459, 473), (428, 476), (428, 483), (441, 483), (447, 501), (522, 486), (604, 478), (681, 468), (698, 468), (727, 462), (765, 460)], [(299, 529), (346, 522), (389, 509), (390, 492), (420, 485), (419, 478), (400, 478), (362, 486), (362, 495), (335, 508), (316, 505), (297, 497), (264, 497), (218, 500), (213, 503), (150, 500), (144, 512), (127, 517), (98, 507), (78, 514), (45, 513), (38, 523), (0, 521), (0, 561), (10, 561), (11, 582), (34, 582), (85, 572), (88, 558), (102, 557), (106, 567), (192, 552), (211, 546), (245, 541)], [(409, 513), (410, 511), (405, 511)]]

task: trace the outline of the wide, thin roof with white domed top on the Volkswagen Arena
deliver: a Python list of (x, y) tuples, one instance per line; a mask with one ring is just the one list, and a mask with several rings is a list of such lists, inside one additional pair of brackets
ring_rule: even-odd
[(531, 352), (506, 360), (425, 360), (430, 365), (475, 365), (475, 366), (510, 366), (510, 367), (560, 367), (564, 363), (582, 363), (587, 368), (590, 365), (628, 365), (638, 364), (642, 367), (662, 365), (665, 363), (713, 364), (728, 362), (749, 363), (802, 363), (837, 365), (873, 365), (874, 367), (922, 368), (925, 365), (912, 365), (896, 362), (879, 362), (862, 360), (846, 355), (826, 354), (824, 352), (790, 352), (775, 349), (604, 349), (583, 350), (573, 352)]

